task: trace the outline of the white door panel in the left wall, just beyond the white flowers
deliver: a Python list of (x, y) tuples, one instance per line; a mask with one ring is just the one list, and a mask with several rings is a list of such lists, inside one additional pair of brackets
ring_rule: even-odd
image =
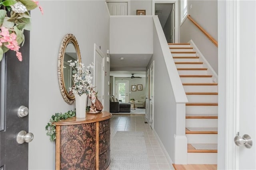
[(104, 63), (105, 56), (100, 48), (94, 44), (94, 90), (98, 92), (98, 100), (104, 108)]

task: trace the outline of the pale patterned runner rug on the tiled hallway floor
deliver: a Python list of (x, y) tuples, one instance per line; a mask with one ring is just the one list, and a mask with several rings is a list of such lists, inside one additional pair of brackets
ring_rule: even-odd
[(143, 132), (117, 131), (110, 145), (111, 170), (149, 170)]

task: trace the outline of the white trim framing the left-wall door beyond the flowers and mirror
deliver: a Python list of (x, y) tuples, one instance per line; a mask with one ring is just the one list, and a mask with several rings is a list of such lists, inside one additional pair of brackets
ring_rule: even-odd
[[(103, 68), (102, 68), (102, 105), (104, 108), (105, 105), (105, 76), (104, 76), (104, 72), (105, 72), (105, 55), (104, 53), (102, 53), (102, 51), (100, 50), (100, 48), (96, 45), (96, 43), (94, 43), (94, 64), (95, 64), (95, 58), (96, 58), (96, 52), (100, 55), (100, 57), (102, 58), (102, 64), (103, 64)], [(95, 68), (93, 70), (93, 84), (95, 86)]]

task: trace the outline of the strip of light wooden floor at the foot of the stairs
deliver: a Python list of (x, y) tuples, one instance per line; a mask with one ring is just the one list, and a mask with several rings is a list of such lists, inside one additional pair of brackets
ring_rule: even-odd
[(216, 170), (216, 164), (187, 164), (187, 165), (179, 165), (172, 164), (175, 170)]

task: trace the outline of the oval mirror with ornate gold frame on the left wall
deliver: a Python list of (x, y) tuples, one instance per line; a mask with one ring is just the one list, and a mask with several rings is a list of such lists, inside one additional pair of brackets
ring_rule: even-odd
[(79, 60), (81, 62), (80, 49), (76, 37), (73, 34), (66, 34), (62, 39), (58, 56), (58, 79), (60, 92), (63, 99), (68, 103), (74, 103), (74, 94), (69, 88), (73, 86), (72, 67), (68, 61), (72, 62)]

